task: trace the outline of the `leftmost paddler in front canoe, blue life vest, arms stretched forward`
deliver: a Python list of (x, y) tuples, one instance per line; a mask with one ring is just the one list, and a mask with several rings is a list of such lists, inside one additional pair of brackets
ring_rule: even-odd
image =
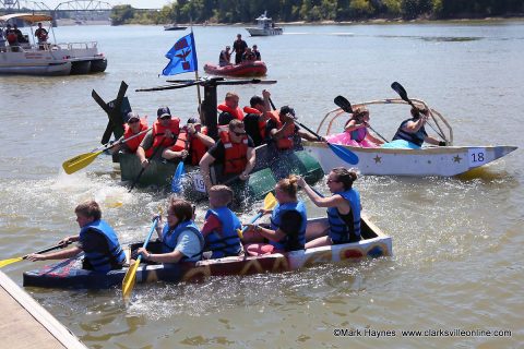
[(122, 268), (126, 261), (118, 237), (112, 228), (102, 219), (100, 206), (95, 201), (86, 201), (74, 208), (76, 222), (80, 226), (78, 236), (70, 236), (60, 241), (60, 244), (78, 242), (69, 250), (48, 254), (29, 254), (27, 260), (47, 261), (71, 258), (84, 252), (82, 268), (107, 273)]

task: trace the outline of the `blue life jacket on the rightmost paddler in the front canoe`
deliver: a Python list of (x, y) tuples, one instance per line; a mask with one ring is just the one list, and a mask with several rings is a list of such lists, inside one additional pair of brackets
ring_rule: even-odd
[(345, 192), (335, 193), (344, 197), (352, 207), (353, 227), (341, 218), (336, 207), (327, 208), (327, 221), (330, 222), (330, 238), (333, 244), (349, 242), (349, 234), (360, 237), (360, 194), (356, 189), (350, 189)]

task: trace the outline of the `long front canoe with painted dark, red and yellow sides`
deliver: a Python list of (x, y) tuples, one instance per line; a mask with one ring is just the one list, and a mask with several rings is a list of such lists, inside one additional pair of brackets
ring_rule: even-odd
[[(326, 218), (308, 220), (308, 232), (325, 229)], [(341, 261), (358, 262), (368, 257), (391, 256), (392, 239), (362, 216), (362, 238), (359, 242), (322, 246), (263, 256), (234, 256), (170, 265), (142, 263), (136, 270), (136, 282), (198, 281), (209, 276), (284, 273), (302, 267)], [(136, 243), (133, 245), (141, 245)], [(129, 249), (128, 249), (129, 253)], [(36, 270), (25, 272), (25, 287), (103, 289), (119, 286), (128, 270), (94, 273), (82, 269), (81, 256), (66, 260)]]

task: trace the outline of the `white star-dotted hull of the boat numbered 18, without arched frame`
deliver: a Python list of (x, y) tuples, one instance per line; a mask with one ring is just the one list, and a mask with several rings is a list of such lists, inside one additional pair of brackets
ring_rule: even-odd
[(348, 164), (337, 157), (326, 144), (305, 142), (305, 149), (317, 158), (329, 173), (332, 168), (357, 168), (361, 174), (442, 176), (464, 173), (495, 161), (516, 149), (516, 146), (442, 146), (421, 149), (362, 148), (344, 145), (358, 157)]

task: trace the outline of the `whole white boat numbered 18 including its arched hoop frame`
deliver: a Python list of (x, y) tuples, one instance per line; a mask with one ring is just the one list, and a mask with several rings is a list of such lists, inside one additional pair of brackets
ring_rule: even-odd
[[(453, 132), (445, 118), (437, 110), (428, 107), (424, 100), (412, 100), (419, 106), (430, 110), (430, 118), (436, 130), (439, 130), (445, 137), (448, 146), (424, 146), (421, 148), (388, 148), (388, 147), (360, 147), (346, 144), (337, 144), (356, 156), (353, 163), (342, 160), (326, 144), (303, 142), (303, 148), (308, 154), (319, 160), (324, 173), (338, 166), (352, 167), (358, 169), (361, 174), (378, 176), (442, 176), (450, 177), (464, 173), (471, 169), (484, 166), (495, 161), (504, 155), (515, 151), (516, 146), (511, 145), (465, 145), (455, 146), (453, 144)], [(394, 105), (406, 104), (402, 99), (381, 99), (356, 104), (355, 106), (371, 105)], [(354, 108), (355, 108), (354, 106)], [(373, 116), (373, 113), (371, 112)], [(317, 133), (326, 124), (326, 131), (323, 132), (326, 137), (334, 124), (334, 121), (348, 116), (341, 108), (331, 110), (319, 123)], [(373, 119), (371, 120), (371, 123)], [(431, 131), (430, 128), (426, 128)], [(371, 131), (372, 132), (372, 131)]]

